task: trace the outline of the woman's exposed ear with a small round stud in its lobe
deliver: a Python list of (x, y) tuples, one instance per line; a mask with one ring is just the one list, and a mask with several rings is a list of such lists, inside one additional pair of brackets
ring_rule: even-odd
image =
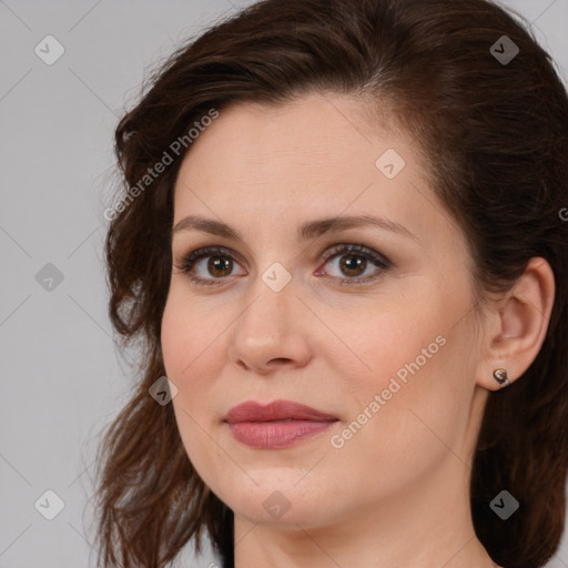
[(481, 337), (484, 357), (477, 384), (488, 390), (501, 385), (494, 371), (507, 371), (513, 384), (527, 371), (542, 346), (555, 300), (555, 276), (545, 258), (534, 257), (511, 290), (490, 301)]

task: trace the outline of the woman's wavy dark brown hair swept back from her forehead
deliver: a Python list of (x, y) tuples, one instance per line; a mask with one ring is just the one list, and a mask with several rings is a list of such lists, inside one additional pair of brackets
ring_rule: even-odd
[[(233, 562), (232, 511), (193, 469), (172, 405), (149, 395), (165, 375), (172, 194), (191, 144), (148, 186), (140, 181), (212, 109), (308, 91), (388, 108), (467, 236), (479, 290), (508, 290), (534, 256), (550, 263), (557, 295), (545, 343), (524, 376), (489, 396), (470, 497), (475, 530), (495, 561), (535, 568), (551, 558), (568, 467), (568, 223), (559, 215), (568, 205), (568, 97), (519, 20), (486, 0), (265, 0), (181, 47), (150, 77), (115, 132), (121, 175), (139, 191), (109, 226), (109, 310), (122, 346), (140, 347), (140, 381), (101, 444), (104, 567), (163, 567), (192, 537), (200, 551), (205, 530)], [(503, 36), (519, 49), (508, 62), (490, 51), (504, 51)], [(503, 489), (520, 503), (506, 521), (489, 508)]]

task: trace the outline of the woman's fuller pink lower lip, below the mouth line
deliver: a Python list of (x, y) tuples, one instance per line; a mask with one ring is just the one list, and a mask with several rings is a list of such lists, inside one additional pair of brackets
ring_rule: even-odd
[(253, 448), (284, 448), (326, 430), (337, 420), (273, 420), (230, 424), (239, 442)]

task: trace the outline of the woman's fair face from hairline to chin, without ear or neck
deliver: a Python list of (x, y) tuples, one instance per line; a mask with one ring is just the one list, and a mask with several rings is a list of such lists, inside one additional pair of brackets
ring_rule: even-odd
[[(235, 514), (307, 528), (400, 513), (426, 488), (440, 507), (467, 496), (487, 395), (470, 261), (408, 140), (346, 97), (234, 105), (185, 156), (173, 224), (175, 266), (215, 247), (173, 268), (173, 407), (193, 466)], [(226, 422), (274, 400), (329, 419), (284, 407), (287, 422)]]

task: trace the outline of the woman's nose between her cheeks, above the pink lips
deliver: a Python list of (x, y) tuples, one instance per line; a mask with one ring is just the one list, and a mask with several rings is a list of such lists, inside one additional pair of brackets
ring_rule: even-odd
[(312, 356), (310, 311), (291, 281), (271, 290), (258, 277), (252, 298), (234, 324), (229, 358), (235, 365), (268, 375), (307, 365)]

